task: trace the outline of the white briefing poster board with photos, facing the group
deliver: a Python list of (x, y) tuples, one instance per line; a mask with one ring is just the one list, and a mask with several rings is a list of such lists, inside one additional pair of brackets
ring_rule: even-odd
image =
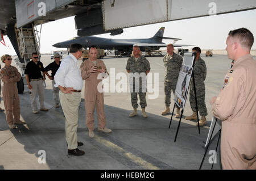
[(184, 110), (187, 99), (189, 84), (193, 71), (193, 61), (195, 56), (193, 52), (184, 53), (183, 63), (180, 69), (179, 77), (174, 94), (174, 102)]

